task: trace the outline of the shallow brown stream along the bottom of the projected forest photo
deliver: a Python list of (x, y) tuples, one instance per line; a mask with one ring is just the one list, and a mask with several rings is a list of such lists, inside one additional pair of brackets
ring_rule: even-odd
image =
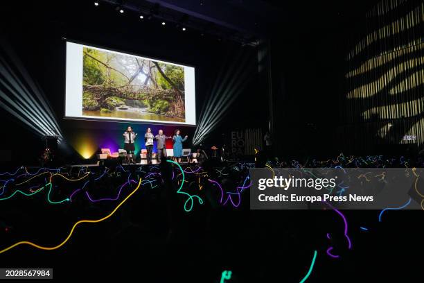
[(82, 110), (82, 116), (91, 117), (109, 117), (118, 119), (140, 119), (140, 120), (153, 120), (153, 121), (172, 121), (172, 122), (184, 122), (185, 119), (177, 117), (166, 117), (165, 115), (154, 114), (150, 112), (144, 112), (142, 108), (130, 108), (127, 107), (125, 110), (113, 110), (113, 111), (102, 111), (102, 110)]

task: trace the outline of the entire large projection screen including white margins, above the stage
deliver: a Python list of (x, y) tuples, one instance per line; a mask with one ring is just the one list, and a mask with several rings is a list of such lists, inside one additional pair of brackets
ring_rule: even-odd
[(64, 117), (195, 126), (195, 68), (68, 41)]

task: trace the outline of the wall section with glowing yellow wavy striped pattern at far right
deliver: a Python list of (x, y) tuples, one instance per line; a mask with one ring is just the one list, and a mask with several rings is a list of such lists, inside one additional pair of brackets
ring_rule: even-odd
[[(346, 55), (342, 138), (355, 148), (424, 144), (424, 3), (383, 0)], [(353, 141), (353, 135), (361, 140)], [(353, 145), (353, 143), (355, 143)]]

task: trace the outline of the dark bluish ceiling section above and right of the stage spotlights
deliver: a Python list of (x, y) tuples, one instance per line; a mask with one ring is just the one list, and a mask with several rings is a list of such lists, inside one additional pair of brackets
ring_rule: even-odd
[(292, 26), (350, 24), (378, 0), (357, 1), (281, 1), (281, 0), (101, 0), (121, 6), (150, 19), (164, 20), (191, 31), (207, 33), (256, 45), (261, 37)]

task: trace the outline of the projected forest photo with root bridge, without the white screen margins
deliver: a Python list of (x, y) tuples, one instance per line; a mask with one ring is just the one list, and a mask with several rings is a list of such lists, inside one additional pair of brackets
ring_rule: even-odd
[(184, 67), (83, 49), (82, 115), (185, 121)]

